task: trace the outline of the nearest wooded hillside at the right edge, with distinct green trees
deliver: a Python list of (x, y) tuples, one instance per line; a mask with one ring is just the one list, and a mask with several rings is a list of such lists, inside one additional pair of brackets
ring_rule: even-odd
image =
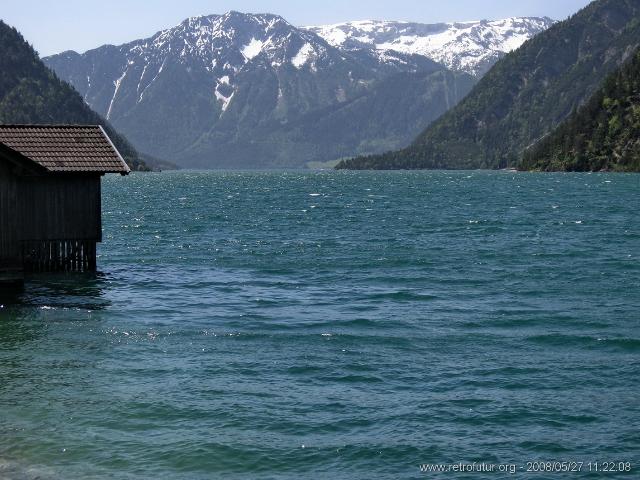
[(640, 49), (586, 105), (527, 149), (521, 168), (640, 171)]

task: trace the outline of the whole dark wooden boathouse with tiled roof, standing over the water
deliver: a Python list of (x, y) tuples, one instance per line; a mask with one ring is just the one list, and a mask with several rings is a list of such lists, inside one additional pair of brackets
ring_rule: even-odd
[(0, 283), (96, 269), (105, 173), (129, 167), (100, 126), (0, 125)]

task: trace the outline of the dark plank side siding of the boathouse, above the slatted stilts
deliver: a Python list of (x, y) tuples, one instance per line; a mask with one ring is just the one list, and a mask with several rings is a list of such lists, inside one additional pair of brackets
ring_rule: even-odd
[(102, 240), (100, 176), (21, 177), (23, 240)]

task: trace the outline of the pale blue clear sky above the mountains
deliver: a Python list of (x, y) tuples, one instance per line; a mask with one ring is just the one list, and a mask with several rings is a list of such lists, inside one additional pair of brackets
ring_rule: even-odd
[(294, 25), (349, 20), (422, 23), (548, 16), (563, 20), (589, 0), (2, 0), (0, 18), (41, 56), (147, 38), (196, 15), (275, 13)]

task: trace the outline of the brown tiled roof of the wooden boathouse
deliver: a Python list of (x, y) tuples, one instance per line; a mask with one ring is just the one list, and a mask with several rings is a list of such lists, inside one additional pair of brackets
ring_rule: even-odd
[(0, 125), (0, 143), (50, 172), (129, 173), (99, 125)]

